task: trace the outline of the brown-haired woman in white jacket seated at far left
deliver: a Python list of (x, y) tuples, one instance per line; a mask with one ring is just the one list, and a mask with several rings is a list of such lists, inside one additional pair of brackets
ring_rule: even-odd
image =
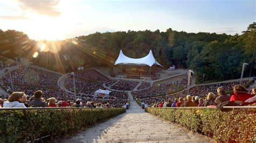
[(3, 108), (26, 108), (23, 102), (26, 100), (24, 92), (13, 92), (8, 98), (8, 101), (4, 101)]

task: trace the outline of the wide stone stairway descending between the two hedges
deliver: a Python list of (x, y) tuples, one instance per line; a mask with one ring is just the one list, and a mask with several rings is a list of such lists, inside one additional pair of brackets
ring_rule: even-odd
[[(129, 93), (131, 96), (131, 94)], [(168, 123), (146, 113), (130, 97), (126, 113), (95, 127), (79, 132), (71, 139), (61, 142), (213, 142), (198, 133), (177, 124)]]

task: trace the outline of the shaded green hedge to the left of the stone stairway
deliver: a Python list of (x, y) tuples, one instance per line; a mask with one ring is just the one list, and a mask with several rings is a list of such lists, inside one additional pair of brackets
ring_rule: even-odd
[[(26, 118), (25, 114), (28, 118)], [(45, 135), (75, 134), (99, 121), (125, 112), (110, 109), (48, 109), (0, 111), (0, 142), (26, 142)]]

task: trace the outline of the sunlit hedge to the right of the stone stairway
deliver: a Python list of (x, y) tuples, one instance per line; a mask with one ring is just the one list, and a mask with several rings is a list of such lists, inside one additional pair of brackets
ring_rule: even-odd
[(221, 112), (209, 108), (146, 108), (146, 112), (203, 133), (215, 141), (256, 142), (255, 109)]

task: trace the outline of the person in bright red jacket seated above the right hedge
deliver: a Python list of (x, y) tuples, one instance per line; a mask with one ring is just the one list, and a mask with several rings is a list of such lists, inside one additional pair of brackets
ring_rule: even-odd
[(230, 101), (245, 102), (248, 98), (253, 97), (253, 95), (248, 94), (248, 90), (240, 84), (234, 85), (233, 91), (234, 93), (231, 94)]

